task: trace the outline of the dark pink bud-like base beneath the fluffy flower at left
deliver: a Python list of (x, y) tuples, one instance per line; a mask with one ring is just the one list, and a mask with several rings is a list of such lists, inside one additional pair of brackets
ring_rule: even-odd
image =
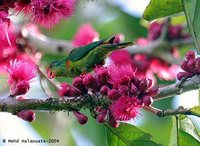
[(29, 82), (24, 80), (18, 81), (16, 84), (12, 84), (10, 87), (11, 94), (14, 96), (26, 94), (29, 89), (30, 89)]

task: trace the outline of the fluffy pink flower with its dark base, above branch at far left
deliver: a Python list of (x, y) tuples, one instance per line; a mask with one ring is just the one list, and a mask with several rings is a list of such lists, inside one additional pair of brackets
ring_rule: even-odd
[(12, 60), (8, 68), (9, 81), (11, 84), (11, 94), (21, 95), (25, 94), (30, 86), (29, 81), (36, 77), (37, 69), (35, 64), (25, 60)]

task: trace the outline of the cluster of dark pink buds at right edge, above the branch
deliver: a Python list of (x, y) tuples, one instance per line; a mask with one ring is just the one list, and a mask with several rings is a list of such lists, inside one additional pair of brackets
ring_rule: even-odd
[(181, 68), (184, 72), (179, 72), (177, 74), (178, 80), (200, 74), (200, 57), (196, 58), (193, 51), (188, 51), (185, 58), (186, 60), (181, 64)]

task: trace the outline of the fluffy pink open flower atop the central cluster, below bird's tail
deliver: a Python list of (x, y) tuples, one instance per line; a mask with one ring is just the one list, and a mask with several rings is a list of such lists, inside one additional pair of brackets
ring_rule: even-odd
[(109, 82), (114, 86), (124, 82), (124, 77), (129, 78), (129, 80), (134, 77), (135, 71), (130, 64), (128, 65), (115, 65), (112, 64), (108, 66)]

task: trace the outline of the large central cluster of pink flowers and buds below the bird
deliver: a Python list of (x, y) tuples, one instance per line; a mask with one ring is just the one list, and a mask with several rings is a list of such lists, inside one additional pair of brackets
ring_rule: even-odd
[[(152, 103), (152, 97), (158, 93), (158, 89), (152, 88), (152, 80), (137, 78), (130, 65), (112, 65), (96, 67), (94, 73), (74, 78), (72, 85), (62, 83), (59, 90), (60, 96), (70, 97), (99, 93), (103, 95), (99, 98), (105, 98), (110, 104), (94, 109), (96, 120), (99, 123), (108, 120), (111, 126), (117, 127), (118, 121), (134, 119), (143, 105), (149, 106)], [(78, 119), (79, 123), (85, 124), (87, 118), (80, 114), (76, 113), (75, 116), (81, 117)], [(84, 122), (82, 118), (85, 119)]]

